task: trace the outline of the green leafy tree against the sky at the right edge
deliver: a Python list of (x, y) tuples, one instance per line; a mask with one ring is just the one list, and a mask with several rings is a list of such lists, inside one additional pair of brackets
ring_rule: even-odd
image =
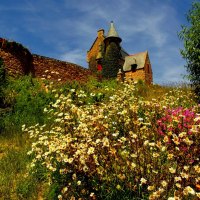
[(184, 41), (184, 49), (180, 50), (186, 60), (189, 79), (195, 87), (195, 92), (200, 100), (200, 2), (193, 2), (188, 11), (188, 26), (182, 26), (179, 38)]

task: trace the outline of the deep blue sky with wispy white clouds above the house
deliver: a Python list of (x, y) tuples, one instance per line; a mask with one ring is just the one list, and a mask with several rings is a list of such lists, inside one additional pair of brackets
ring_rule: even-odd
[(183, 81), (177, 33), (192, 0), (1, 0), (0, 37), (32, 53), (87, 67), (86, 53), (114, 21), (129, 53), (148, 50), (155, 83)]

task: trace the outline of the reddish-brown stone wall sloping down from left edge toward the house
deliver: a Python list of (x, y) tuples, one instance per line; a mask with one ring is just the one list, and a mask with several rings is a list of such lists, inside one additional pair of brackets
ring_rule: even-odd
[(85, 81), (91, 72), (79, 65), (53, 58), (31, 54), (28, 49), (16, 42), (0, 38), (0, 57), (6, 72), (11, 76), (31, 73), (34, 77), (48, 77), (51, 80)]

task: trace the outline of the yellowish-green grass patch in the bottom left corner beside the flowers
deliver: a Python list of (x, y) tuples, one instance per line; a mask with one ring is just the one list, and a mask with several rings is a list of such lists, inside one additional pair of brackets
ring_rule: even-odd
[(0, 199), (38, 199), (40, 182), (29, 174), (27, 135), (0, 135)]

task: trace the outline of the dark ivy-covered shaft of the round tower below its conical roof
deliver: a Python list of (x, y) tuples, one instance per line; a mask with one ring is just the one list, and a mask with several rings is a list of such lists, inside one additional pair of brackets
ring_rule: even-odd
[(104, 78), (115, 78), (119, 71), (120, 49), (115, 42), (111, 42), (107, 49), (103, 59), (103, 71)]

